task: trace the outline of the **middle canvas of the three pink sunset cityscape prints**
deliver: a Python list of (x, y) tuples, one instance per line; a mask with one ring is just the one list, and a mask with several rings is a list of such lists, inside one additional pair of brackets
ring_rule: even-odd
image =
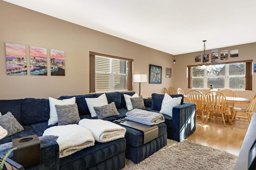
[(30, 75), (47, 75), (47, 49), (30, 46)]

